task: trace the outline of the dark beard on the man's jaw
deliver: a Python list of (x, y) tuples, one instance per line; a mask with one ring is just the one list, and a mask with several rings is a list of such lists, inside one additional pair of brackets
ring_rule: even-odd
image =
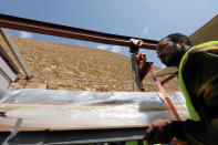
[(170, 54), (168, 62), (165, 64), (167, 66), (177, 66), (181, 60), (183, 53), (180, 51)]

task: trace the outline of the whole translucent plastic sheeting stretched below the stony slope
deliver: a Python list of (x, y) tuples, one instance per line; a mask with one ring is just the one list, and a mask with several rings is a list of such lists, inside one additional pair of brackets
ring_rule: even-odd
[[(183, 94), (168, 95), (180, 117), (189, 117)], [(0, 111), (6, 112), (0, 126), (6, 130), (17, 118), (23, 118), (22, 130), (128, 127), (145, 126), (157, 118), (175, 120), (157, 92), (0, 90)]]

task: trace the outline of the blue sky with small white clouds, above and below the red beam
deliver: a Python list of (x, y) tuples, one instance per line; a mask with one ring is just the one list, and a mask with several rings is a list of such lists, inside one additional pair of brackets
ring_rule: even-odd
[[(0, 13), (98, 32), (160, 40), (190, 35), (216, 14), (218, 0), (1, 0)], [(13, 37), (76, 44), (129, 56), (128, 48), (10, 30)], [(154, 65), (155, 51), (142, 50)]]

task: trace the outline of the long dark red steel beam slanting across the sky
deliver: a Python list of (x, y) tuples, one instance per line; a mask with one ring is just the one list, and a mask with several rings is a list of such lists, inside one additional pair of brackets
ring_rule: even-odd
[[(97, 43), (123, 45), (123, 46), (131, 46), (132, 43), (129, 39), (133, 38), (133, 37), (124, 37), (124, 35), (103, 33), (103, 32), (91, 31), (85, 29), (79, 29), (73, 27), (66, 27), (61, 24), (54, 24), (49, 22), (42, 22), (37, 20), (30, 20), (30, 19), (12, 17), (7, 14), (0, 14), (0, 27), (69, 38), (69, 39), (92, 41)], [(142, 39), (142, 38), (135, 38), (135, 39), (143, 40), (143, 45), (141, 46), (142, 49), (156, 50), (157, 41)]]

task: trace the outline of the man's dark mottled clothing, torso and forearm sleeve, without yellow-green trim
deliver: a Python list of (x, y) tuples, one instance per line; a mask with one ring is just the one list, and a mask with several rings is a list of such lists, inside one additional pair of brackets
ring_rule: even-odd
[(218, 45), (190, 51), (184, 63), (183, 80), (201, 121), (173, 123), (176, 137), (195, 144), (218, 143)]

